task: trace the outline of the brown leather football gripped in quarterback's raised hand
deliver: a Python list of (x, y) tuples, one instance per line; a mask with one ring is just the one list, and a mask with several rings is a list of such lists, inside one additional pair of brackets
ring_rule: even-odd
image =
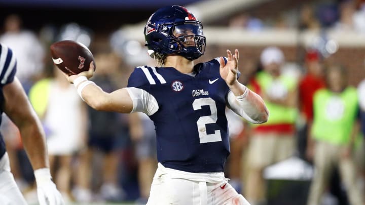
[[(73, 40), (61, 40), (50, 47), (53, 63), (67, 75), (89, 70), (94, 56), (83, 44)], [(94, 61), (94, 70), (96, 68)]]

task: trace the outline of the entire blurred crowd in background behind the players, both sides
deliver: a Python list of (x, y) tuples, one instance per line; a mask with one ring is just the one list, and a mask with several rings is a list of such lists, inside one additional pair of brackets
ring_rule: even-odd
[[(293, 23), (295, 13), (273, 21), (243, 11), (227, 26), (257, 32), (275, 27), (365, 33), (365, 1), (303, 5)], [(52, 176), (65, 200), (145, 204), (157, 167), (153, 122), (140, 113), (89, 108), (48, 52), (50, 44), (63, 39), (92, 47), (92, 80), (111, 92), (127, 85), (134, 66), (156, 66), (142, 45), (122, 39), (118, 30), (109, 38), (94, 38), (95, 31), (77, 23), (25, 30), (16, 14), (5, 19), (2, 31), (0, 43), (13, 49), (17, 76), (43, 122)], [(250, 125), (227, 111), (231, 155), (226, 175), (252, 205), (363, 205), (365, 79), (350, 84), (348, 68), (331, 56), (336, 51), (318, 44), (304, 50), (301, 61), (288, 62), (280, 47), (267, 45), (257, 58), (240, 64), (239, 80), (262, 96), (270, 118), (265, 124)], [(0, 129), (14, 177), (32, 203), (34, 179), (19, 131), (9, 119)]]

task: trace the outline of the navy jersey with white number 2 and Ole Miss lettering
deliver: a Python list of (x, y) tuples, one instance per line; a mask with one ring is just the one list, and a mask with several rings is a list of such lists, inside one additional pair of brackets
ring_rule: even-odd
[(136, 67), (128, 87), (153, 95), (159, 110), (150, 118), (157, 134), (157, 158), (167, 168), (222, 172), (229, 155), (226, 95), (217, 59), (194, 66), (195, 76), (173, 67)]

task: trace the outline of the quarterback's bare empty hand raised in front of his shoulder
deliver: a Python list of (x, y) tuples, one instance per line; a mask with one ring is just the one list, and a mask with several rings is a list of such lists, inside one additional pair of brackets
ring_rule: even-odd
[(232, 86), (237, 81), (238, 73), (238, 50), (235, 50), (235, 55), (232, 55), (230, 50), (227, 50), (227, 63), (223, 57), (220, 57), (220, 74), (226, 81), (228, 86)]

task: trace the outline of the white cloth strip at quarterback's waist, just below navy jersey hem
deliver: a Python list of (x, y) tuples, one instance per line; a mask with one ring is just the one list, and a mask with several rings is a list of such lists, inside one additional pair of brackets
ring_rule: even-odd
[(224, 172), (208, 172), (208, 173), (192, 173), (171, 168), (166, 168), (162, 163), (158, 163), (158, 169), (156, 171), (157, 176), (168, 174), (171, 179), (188, 179), (197, 182), (208, 182), (213, 184), (227, 182), (227, 178), (224, 176)]

